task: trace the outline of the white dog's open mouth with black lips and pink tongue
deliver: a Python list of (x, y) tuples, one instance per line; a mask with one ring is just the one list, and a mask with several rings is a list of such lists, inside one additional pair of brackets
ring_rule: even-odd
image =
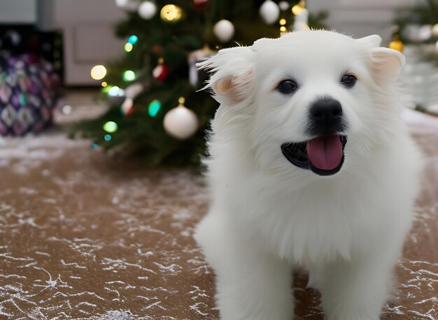
[(320, 136), (301, 143), (283, 143), (281, 151), (298, 168), (317, 175), (334, 175), (344, 164), (346, 136)]

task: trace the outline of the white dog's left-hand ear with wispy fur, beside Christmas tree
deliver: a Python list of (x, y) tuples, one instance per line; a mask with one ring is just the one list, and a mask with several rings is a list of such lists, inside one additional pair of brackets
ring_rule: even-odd
[(250, 96), (253, 83), (254, 51), (249, 47), (220, 50), (213, 57), (197, 64), (198, 68), (211, 71), (208, 84), (219, 103), (241, 103)]

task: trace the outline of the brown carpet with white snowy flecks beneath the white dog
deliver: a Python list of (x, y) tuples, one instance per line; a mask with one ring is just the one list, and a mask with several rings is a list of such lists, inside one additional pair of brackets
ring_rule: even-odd
[[(438, 319), (438, 122), (418, 119), (425, 191), (382, 319)], [(108, 159), (55, 133), (1, 140), (0, 177), (0, 319), (218, 319), (192, 240), (208, 203), (196, 173)], [(323, 319), (305, 283), (298, 319)]]

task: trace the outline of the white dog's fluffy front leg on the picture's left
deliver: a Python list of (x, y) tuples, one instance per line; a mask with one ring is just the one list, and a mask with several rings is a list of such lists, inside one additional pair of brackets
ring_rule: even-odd
[(216, 272), (222, 320), (292, 320), (292, 267), (208, 215), (195, 238)]

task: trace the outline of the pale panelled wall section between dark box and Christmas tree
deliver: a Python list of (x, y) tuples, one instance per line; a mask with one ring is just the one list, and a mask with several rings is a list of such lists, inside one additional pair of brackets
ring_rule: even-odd
[(53, 27), (64, 31), (64, 82), (99, 85), (90, 77), (92, 66), (125, 53), (125, 41), (114, 35), (125, 13), (114, 0), (52, 0), (51, 10)]

